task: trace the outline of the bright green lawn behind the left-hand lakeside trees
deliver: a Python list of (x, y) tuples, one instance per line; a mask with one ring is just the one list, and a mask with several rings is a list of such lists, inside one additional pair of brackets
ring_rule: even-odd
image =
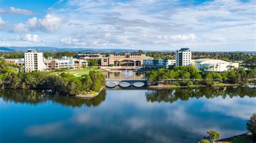
[(98, 67), (88, 67), (85, 69), (76, 69), (76, 70), (66, 70), (66, 71), (51, 71), (52, 74), (60, 74), (60, 73), (69, 73), (75, 76), (82, 76), (84, 74), (89, 74), (89, 71), (91, 70), (95, 70), (95, 71), (105, 71), (102, 68), (98, 68)]

